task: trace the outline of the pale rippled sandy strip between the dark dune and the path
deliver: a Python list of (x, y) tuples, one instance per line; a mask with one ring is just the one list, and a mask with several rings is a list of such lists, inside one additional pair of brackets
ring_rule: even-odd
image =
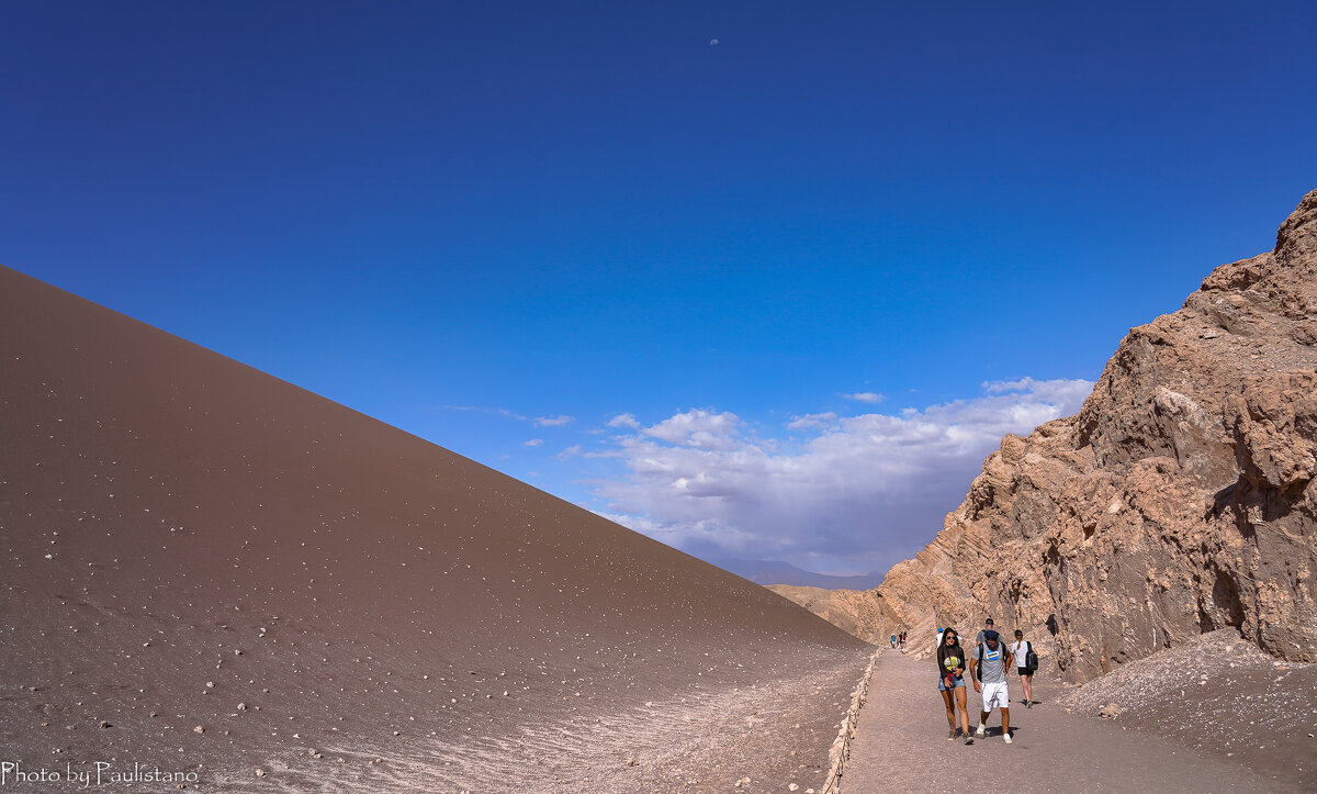
[[(342, 786), (361, 791), (726, 791), (751, 778), (752, 790), (817, 786), (827, 772), (835, 716), (855, 669), (811, 673), (716, 694), (689, 691), (670, 700), (607, 715), (583, 714), (539, 727), (486, 733), (461, 743), (433, 739), (395, 745), (382, 762), (371, 753), (323, 745), (324, 760), (271, 765), (278, 783), (221, 774), (225, 791), (303, 791)], [(801, 721), (806, 720), (806, 721)], [(344, 766), (329, 758), (345, 757)]]

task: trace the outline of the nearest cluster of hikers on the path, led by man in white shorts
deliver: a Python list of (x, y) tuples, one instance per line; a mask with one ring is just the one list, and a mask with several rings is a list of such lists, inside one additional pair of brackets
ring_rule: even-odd
[[(1015, 641), (1006, 645), (989, 617), (975, 637), (975, 646), (965, 654), (960, 646), (960, 634), (947, 626), (938, 629), (938, 691), (947, 706), (947, 724), (951, 731), (947, 739), (955, 741), (964, 736), (965, 744), (982, 739), (988, 728), (988, 718), (993, 708), (1001, 710), (1001, 737), (1006, 744), (1010, 739), (1010, 691), (1006, 687), (1006, 673), (1015, 667), (1025, 690), (1025, 707), (1034, 707), (1034, 671), (1038, 670), (1038, 654), (1031, 642), (1025, 640), (1025, 632), (1015, 629)], [(969, 732), (969, 707), (965, 704), (965, 670), (975, 691), (982, 695), (982, 708), (979, 712), (979, 727)], [(960, 727), (956, 727), (956, 710), (960, 710)]]

